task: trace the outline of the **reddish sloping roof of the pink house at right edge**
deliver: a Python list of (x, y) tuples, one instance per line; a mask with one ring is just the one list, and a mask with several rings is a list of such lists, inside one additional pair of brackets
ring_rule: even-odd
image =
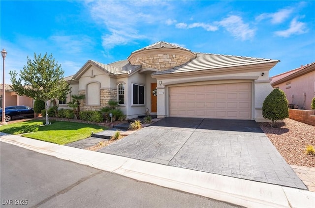
[(281, 73), (279, 75), (275, 75), (271, 77), (270, 84), (272, 86), (275, 86), (277, 84), (283, 83), (285, 81), (288, 81), (292, 78), (297, 78), (299, 76), (305, 75), (309, 72), (315, 71), (315, 62), (307, 64), (305, 66), (301, 66), (299, 68)]

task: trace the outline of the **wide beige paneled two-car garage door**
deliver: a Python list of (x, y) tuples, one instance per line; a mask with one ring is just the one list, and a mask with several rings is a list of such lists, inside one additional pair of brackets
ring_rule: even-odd
[(171, 117), (251, 120), (250, 82), (170, 87), (169, 94)]

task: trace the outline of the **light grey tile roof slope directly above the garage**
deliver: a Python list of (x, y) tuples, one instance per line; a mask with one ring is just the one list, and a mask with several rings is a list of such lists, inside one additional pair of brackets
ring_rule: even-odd
[(192, 72), (192, 71), (201, 71), (201, 70), (209, 70), (209, 69), (219, 69), (219, 68), (279, 62), (279, 60), (266, 59), (266, 58), (255, 58), (255, 57), (247, 57), (247, 56), (233, 56), (233, 55), (222, 55), (222, 54), (200, 53), (200, 52), (194, 52), (194, 53), (197, 55), (196, 58), (190, 60), (188, 63), (185, 63), (181, 66), (178, 66), (169, 70), (155, 72), (153, 73), (153, 75)]

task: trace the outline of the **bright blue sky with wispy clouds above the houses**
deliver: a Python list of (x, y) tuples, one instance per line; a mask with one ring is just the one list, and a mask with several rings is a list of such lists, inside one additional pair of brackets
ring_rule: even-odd
[[(192, 52), (281, 60), (274, 76), (315, 61), (314, 1), (0, 1), (8, 71), (52, 53), (64, 76), (165, 41)], [(2, 80), (2, 61), (1, 61)]]

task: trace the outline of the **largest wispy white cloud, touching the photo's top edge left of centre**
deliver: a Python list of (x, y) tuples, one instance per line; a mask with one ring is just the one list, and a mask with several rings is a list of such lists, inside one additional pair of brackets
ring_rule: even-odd
[(165, 20), (165, 14), (160, 12), (168, 6), (167, 1), (86, 1), (86, 6), (95, 22), (107, 29), (102, 35), (106, 50), (150, 38), (151, 35), (139, 35), (139, 30), (145, 26), (174, 23), (174, 20)]

